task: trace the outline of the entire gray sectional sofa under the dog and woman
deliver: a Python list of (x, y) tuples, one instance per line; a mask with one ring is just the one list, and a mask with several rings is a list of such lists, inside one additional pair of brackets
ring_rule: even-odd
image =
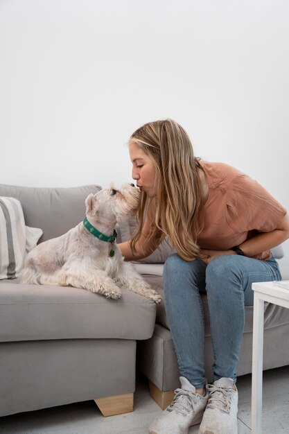
[[(0, 185), (0, 196), (18, 198), (26, 225), (41, 227), (40, 242), (59, 236), (82, 220), (85, 198), (99, 186), (30, 189)], [(130, 238), (130, 220), (118, 228), (118, 242)], [(168, 243), (134, 267), (163, 294), (163, 264)], [(281, 248), (275, 255), (282, 256)], [(289, 279), (286, 259), (279, 259)], [(212, 347), (207, 300), (206, 373), (211, 376)], [(252, 306), (246, 324), (238, 375), (251, 372)], [(289, 310), (265, 309), (264, 369), (289, 364)], [(148, 377), (150, 392), (165, 408), (179, 387), (179, 371), (164, 303), (156, 306), (123, 290), (119, 301), (78, 288), (19, 285), (0, 281), (0, 416), (88, 399), (104, 415), (132, 410), (135, 364)]]

